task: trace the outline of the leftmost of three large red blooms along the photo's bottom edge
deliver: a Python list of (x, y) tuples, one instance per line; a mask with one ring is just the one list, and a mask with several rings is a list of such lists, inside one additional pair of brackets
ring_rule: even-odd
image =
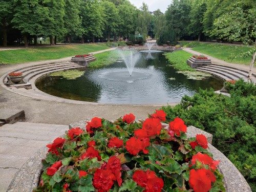
[(94, 173), (93, 186), (98, 189), (98, 192), (109, 191), (117, 181), (121, 186), (121, 162), (115, 156), (111, 157), (106, 166), (97, 169)]

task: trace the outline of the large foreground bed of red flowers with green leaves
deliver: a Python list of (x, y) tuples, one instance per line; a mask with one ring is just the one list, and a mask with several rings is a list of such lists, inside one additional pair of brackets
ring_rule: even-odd
[(225, 191), (204, 135), (186, 137), (176, 118), (162, 129), (160, 110), (143, 122), (133, 114), (100, 118), (48, 144), (34, 191)]

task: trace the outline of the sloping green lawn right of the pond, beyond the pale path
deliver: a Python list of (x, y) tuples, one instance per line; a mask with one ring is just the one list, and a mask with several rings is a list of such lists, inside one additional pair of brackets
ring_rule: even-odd
[[(210, 55), (212, 57), (243, 65), (250, 65), (251, 55), (255, 47), (251, 46), (231, 46), (231, 45), (221, 45), (221, 44), (207, 44), (203, 42), (180, 42), (182, 46), (192, 47), (192, 50), (198, 51), (203, 54)], [(251, 51), (251, 55), (246, 55)]]

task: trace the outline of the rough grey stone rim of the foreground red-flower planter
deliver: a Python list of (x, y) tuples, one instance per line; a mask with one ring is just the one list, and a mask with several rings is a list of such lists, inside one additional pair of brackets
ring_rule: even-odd
[[(77, 123), (70, 124), (69, 127), (84, 127), (86, 125), (85, 121), (79, 121)], [(164, 124), (167, 126), (168, 124)], [(252, 192), (250, 186), (239, 172), (236, 166), (223, 155), (217, 148), (212, 146), (210, 143), (212, 141), (212, 135), (204, 132), (197, 127), (188, 126), (187, 136), (195, 137), (197, 134), (204, 134), (209, 142), (209, 151), (213, 154), (215, 160), (220, 160), (218, 166), (220, 172), (224, 175), (224, 183), (227, 192)], [(11, 184), (9, 185), (8, 192), (31, 192), (38, 185), (39, 178), (41, 174), (42, 164), (41, 160), (47, 155), (47, 147), (42, 147), (38, 150), (15, 174)]]

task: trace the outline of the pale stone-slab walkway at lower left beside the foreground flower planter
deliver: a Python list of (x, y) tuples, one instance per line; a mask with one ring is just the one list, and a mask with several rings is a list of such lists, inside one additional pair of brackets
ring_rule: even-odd
[(15, 174), (31, 156), (67, 130), (67, 125), (24, 122), (0, 127), (0, 192), (7, 190)]

